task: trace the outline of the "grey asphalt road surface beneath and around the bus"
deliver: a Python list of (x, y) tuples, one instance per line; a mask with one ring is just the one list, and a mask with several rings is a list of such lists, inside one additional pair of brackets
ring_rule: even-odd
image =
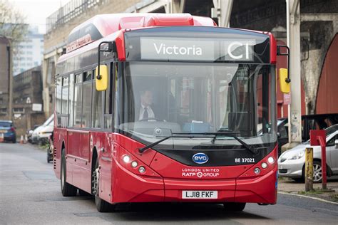
[(62, 197), (52, 166), (33, 145), (0, 143), (0, 224), (338, 224), (338, 205), (286, 194), (238, 213), (217, 204), (123, 204), (99, 213), (92, 197)]

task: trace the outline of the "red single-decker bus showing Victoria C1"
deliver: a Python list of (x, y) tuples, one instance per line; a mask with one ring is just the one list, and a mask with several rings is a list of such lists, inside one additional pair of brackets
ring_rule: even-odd
[(93, 194), (98, 211), (275, 204), (276, 58), (271, 33), (190, 14), (106, 14), (77, 26), (56, 64), (63, 196)]

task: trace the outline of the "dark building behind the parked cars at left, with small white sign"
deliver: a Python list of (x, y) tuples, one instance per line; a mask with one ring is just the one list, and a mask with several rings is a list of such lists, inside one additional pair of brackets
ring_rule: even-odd
[(41, 66), (14, 77), (13, 120), (17, 135), (24, 135), (34, 125), (41, 125), (43, 113)]

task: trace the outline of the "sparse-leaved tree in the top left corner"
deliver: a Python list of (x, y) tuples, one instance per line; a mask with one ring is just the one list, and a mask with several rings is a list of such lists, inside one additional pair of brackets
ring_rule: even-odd
[(28, 30), (26, 17), (8, 0), (0, 0), (0, 36), (11, 38), (15, 44), (22, 41)]

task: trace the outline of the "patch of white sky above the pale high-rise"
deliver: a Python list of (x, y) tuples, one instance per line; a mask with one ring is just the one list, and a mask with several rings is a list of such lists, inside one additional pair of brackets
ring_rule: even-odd
[(26, 16), (26, 23), (39, 26), (46, 33), (46, 18), (70, 0), (8, 0)]

